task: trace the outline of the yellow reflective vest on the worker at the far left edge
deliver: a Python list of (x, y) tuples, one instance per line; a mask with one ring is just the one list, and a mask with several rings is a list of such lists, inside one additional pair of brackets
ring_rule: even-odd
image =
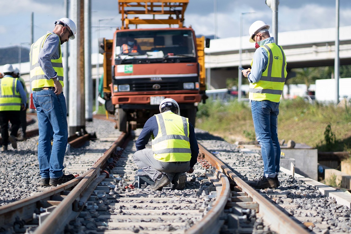
[(0, 79), (0, 111), (20, 111), (21, 95), (16, 91), (17, 78), (6, 76)]

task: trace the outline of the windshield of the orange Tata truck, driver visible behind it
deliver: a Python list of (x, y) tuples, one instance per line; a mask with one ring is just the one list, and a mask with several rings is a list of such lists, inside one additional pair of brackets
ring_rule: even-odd
[(195, 57), (193, 32), (190, 30), (150, 30), (117, 32), (116, 59), (166, 59)]

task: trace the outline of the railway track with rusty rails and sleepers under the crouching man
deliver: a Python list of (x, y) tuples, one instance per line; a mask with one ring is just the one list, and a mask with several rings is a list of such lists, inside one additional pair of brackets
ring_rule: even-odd
[(309, 232), (306, 224), (293, 220), (275, 202), (267, 200), (234, 174), (227, 166), (229, 161), (221, 161), (226, 158), (214, 156), (201, 145), (199, 163), (194, 173), (188, 174), (184, 190), (165, 187), (162, 191), (151, 191), (144, 184), (146, 179), (142, 174), (137, 182), (138, 168), (132, 159), (135, 141), (132, 139), (134, 137), (126, 133), (100, 139), (103, 142), (98, 147), (79, 155), (79, 163), (65, 168), (67, 173), (81, 174), (75, 180), (58, 187), (42, 188), (41, 193), (0, 207), (0, 231)]

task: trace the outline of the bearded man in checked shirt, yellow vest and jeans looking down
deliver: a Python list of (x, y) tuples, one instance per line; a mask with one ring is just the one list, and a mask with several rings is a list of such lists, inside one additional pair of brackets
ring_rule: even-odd
[[(39, 127), (38, 160), (42, 186), (56, 186), (74, 179), (63, 174), (68, 126), (61, 45), (74, 39), (77, 27), (68, 18), (55, 22), (53, 31), (34, 42), (29, 55), (33, 103)], [(53, 144), (51, 148), (51, 139)]]

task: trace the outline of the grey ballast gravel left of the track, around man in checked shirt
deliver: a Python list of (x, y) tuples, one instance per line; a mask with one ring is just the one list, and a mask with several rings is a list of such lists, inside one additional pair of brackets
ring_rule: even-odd
[[(33, 124), (27, 126), (27, 131), (38, 128), (37, 116), (27, 116), (35, 120)], [(118, 132), (114, 125), (114, 122), (111, 121), (93, 119), (92, 122), (86, 122), (86, 131), (95, 132), (98, 138), (102, 138)], [(13, 149), (10, 144), (7, 152), (0, 152), (0, 206), (40, 192), (38, 190), (41, 186), (39, 185), (39, 163), (36, 155), (37, 143), (38, 136), (34, 136), (26, 141), (18, 141), (17, 149)], [(83, 147), (70, 148), (70, 152), (65, 156), (64, 166), (78, 163), (75, 161), (77, 155), (94, 149), (99, 143), (99, 140), (94, 140), (85, 143)]]

